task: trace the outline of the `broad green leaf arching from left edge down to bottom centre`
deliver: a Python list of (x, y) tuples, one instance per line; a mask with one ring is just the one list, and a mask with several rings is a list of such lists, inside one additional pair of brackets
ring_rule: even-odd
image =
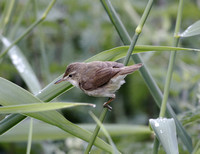
[[(0, 104), (2, 104), (3, 106), (7, 106), (7, 105), (37, 103), (37, 102), (42, 103), (41, 100), (33, 96), (31, 93), (9, 82), (8, 80), (5, 80), (0, 77)], [(44, 121), (51, 125), (57, 126), (61, 128), (62, 130), (78, 138), (81, 138), (85, 141), (90, 140), (90, 136), (91, 136), (90, 132), (71, 123), (57, 111), (27, 113), (25, 115)], [(110, 151), (111, 149), (110, 145), (108, 145), (107, 143), (105, 143), (103, 140), (99, 138), (95, 141), (95, 145), (106, 151)]]

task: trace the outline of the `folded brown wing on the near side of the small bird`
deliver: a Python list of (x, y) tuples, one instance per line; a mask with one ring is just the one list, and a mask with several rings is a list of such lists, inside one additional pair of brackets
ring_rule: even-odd
[(119, 68), (105, 67), (99, 68), (92, 72), (90, 78), (87, 81), (82, 82), (81, 87), (85, 90), (94, 90), (105, 84), (120, 71)]

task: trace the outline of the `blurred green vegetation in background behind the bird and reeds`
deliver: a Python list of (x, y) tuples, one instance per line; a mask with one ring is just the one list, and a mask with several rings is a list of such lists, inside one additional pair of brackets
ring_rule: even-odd
[[(11, 1), (11, 0), (10, 0)], [(26, 5), (28, 3), (28, 5)], [(143, 13), (147, 0), (115, 0), (112, 1), (117, 13), (125, 24), (130, 36)], [(1, 25), (2, 35), (14, 40), (36, 19), (41, 17), (49, 1), (18, 0), (11, 12), (11, 20), (5, 27)], [(7, 9), (8, 2), (0, 1), (0, 17)], [(35, 7), (37, 6), (37, 12)], [(171, 46), (174, 25), (176, 21), (178, 1), (157, 0), (137, 44)], [(19, 18), (22, 8), (27, 7), (25, 16), (13, 35), (13, 27)], [(181, 31), (200, 19), (200, 1), (185, 1)], [(1, 19), (0, 18), (0, 19)], [(180, 46), (200, 48), (200, 37), (194, 36), (181, 39)], [(65, 71), (71, 62), (84, 61), (87, 58), (113, 47), (123, 45), (115, 28), (104, 11), (100, 1), (92, 0), (59, 0), (47, 16), (47, 19), (37, 26), (28, 36), (22, 39), (18, 47), (28, 59), (42, 87)], [(0, 45), (3, 50), (3, 45)], [(149, 71), (163, 91), (169, 52), (149, 52), (141, 56)], [(170, 90), (170, 102), (180, 117), (184, 112), (194, 110), (199, 106), (200, 54), (197, 52), (178, 52)], [(130, 61), (130, 64), (133, 62)], [(0, 59), (0, 76), (27, 89), (10, 59), (6, 56)], [(78, 97), (77, 97), (78, 96)], [(99, 115), (105, 98), (93, 98), (74, 88), (61, 95), (59, 100), (95, 103), (93, 109)], [(155, 105), (148, 88), (139, 73), (126, 78), (126, 84), (117, 92), (117, 98), (112, 102), (113, 110), (108, 113), (105, 123), (142, 124), (147, 125), (149, 118), (158, 117), (159, 109)], [(183, 112), (184, 111), (184, 112)], [(63, 114), (74, 123), (94, 123), (84, 107), (62, 110)], [(187, 125), (194, 144), (199, 140), (199, 121)], [(34, 143), (31, 153), (81, 153), (86, 146), (83, 141), (71, 139), (73, 145), (69, 148), (68, 139), (64, 141), (48, 141)], [(77, 139), (79, 140), (79, 139)], [(137, 139), (127, 136), (113, 138), (115, 144), (123, 153), (149, 153), (152, 149), (152, 139)], [(137, 142), (139, 140), (139, 142)], [(79, 145), (80, 144), (80, 145)], [(47, 147), (52, 146), (50, 149)], [(66, 147), (68, 146), (68, 147)], [(12, 149), (10, 149), (12, 147)], [(0, 153), (25, 153), (22, 143), (2, 143)], [(48, 151), (48, 150), (49, 151)], [(70, 151), (71, 150), (71, 151)], [(97, 150), (97, 149), (96, 149)], [(146, 151), (146, 152), (145, 152)], [(161, 150), (162, 151), (162, 150)], [(98, 150), (94, 153), (99, 152)], [(100, 153), (100, 152), (99, 152)], [(162, 152), (161, 152), (162, 153)], [(180, 147), (180, 153), (185, 152)]]

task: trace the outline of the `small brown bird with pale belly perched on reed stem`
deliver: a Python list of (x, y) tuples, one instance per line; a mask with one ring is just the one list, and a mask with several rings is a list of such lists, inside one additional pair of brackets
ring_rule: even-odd
[(111, 61), (75, 62), (67, 66), (63, 77), (55, 84), (68, 81), (89, 96), (108, 97), (103, 107), (112, 110), (108, 104), (115, 99), (115, 92), (125, 83), (124, 78), (142, 65), (124, 66)]

